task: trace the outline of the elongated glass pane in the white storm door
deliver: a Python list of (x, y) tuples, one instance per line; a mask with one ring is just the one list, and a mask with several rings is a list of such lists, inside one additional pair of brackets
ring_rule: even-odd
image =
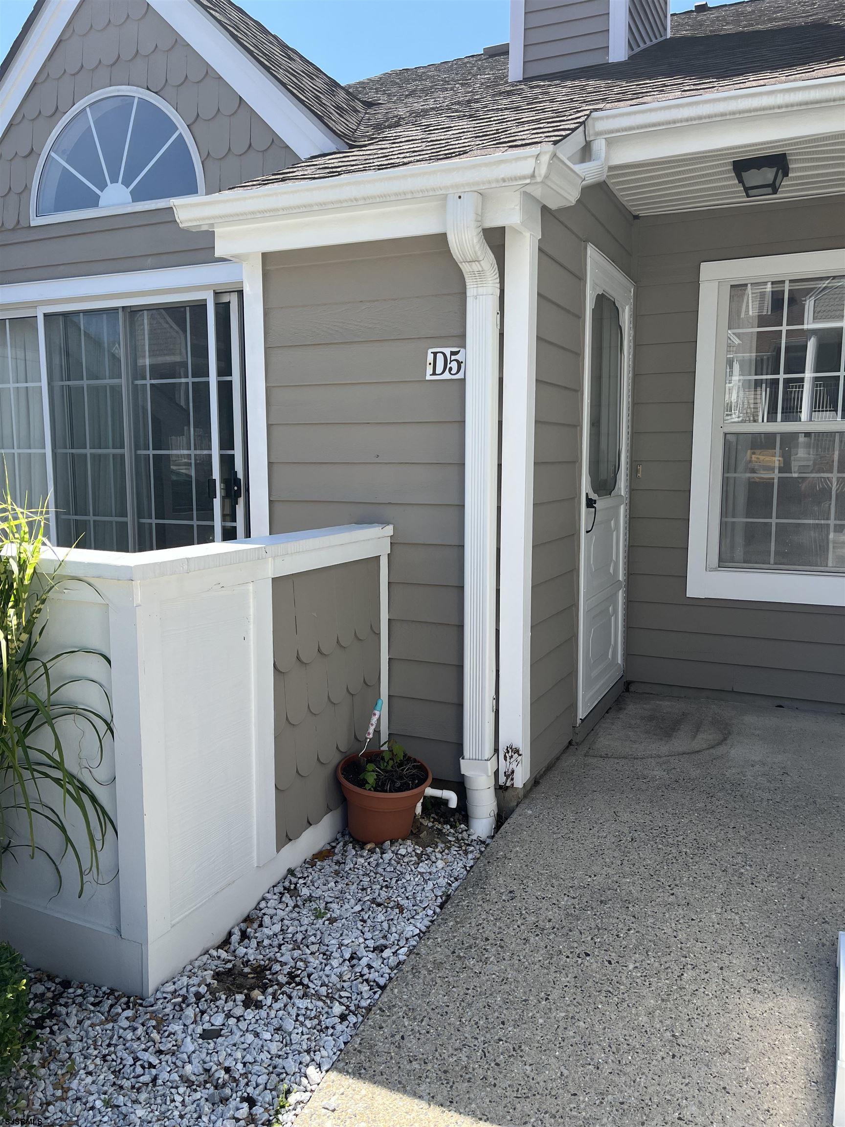
[(605, 293), (596, 295), (590, 335), (589, 483), (596, 497), (610, 497), (622, 459), (622, 322)]

